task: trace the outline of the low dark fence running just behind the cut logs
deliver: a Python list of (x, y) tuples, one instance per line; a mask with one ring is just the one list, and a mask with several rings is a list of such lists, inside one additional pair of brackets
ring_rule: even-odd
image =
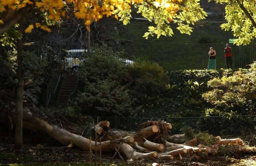
[(172, 124), (172, 134), (181, 134), (184, 128), (208, 131), (212, 134), (237, 134), (245, 128), (254, 130), (256, 115), (215, 116), (215, 117), (164, 117), (164, 118), (133, 118), (133, 117), (93, 117), (94, 122), (108, 120), (111, 128), (136, 131), (141, 123), (164, 120)]

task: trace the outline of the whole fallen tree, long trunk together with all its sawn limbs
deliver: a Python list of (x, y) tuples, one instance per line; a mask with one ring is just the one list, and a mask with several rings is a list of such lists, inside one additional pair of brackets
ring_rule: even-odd
[[(84, 151), (98, 151), (99, 145), (101, 145), (102, 152), (115, 153), (119, 151), (129, 160), (174, 160), (184, 158), (199, 160), (205, 153), (207, 155), (216, 155), (219, 150), (219, 145), (243, 145), (243, 141), (240, 138), (223, 140), (220, 137), (216, 138), (217, 141), (212, 146), (198, 144), (196, 139), (181, 144), (175, 144), (165, 139), (170, 137), (168, 131), (172, 129), (172, 125), (164, 121), (143, 123), (136, 132), (112, 130), (109, 128), (111, 124), (108, 121), (102, 121), (92, 127), (92, 132), (96, 133), (96, 138), (98, 139), (90, 141), (57, 124), (49, 123), (47, 119), (38, 117), (36, 113), (33, 112), (35, 111), (33, 111), (31, 107), (23, 108), (24, 128), (32, 131), (43, 131), (66, 146), (72, 142), (73, 146)], [(5, 109), (0, 110), (0, 122), (5, 122), (5, 119), (8, 119), (8, 117), (12, 119), (15, 125), (15, 109), (8, 111)], [(184, 138), (183, 136), (181, 137), (181, 139)], [(175, 138), (177, 139), (179, 136), (176, 135)], [(102, 140), (101, 144), (98, 140)], [(92, 146), (95, 144), (96, 146)]]

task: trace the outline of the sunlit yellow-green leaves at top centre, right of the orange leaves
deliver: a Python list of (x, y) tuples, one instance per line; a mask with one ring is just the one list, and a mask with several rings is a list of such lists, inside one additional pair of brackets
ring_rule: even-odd
[[(173, 31), (171, 28), (169, 14), (163, 8), (156, 8), (154, 2), (141, 2), (134, 5), (138, 9), (137, 13), (140, 13), (144, 18), (147, 18), (148, 21), (154, 22), (154, 26), (148, 27), (148, 32), (144, 33), (146, 39), (149, 36), (156, 35), (157, 38), (160, 36), (171, 37)], [(120, 21), (123, 21), (124, 25), (127, 25), (130, 22), (129, 17), (131, 17), (132, 10), (126, 9), (123, 11), (114, 11), (120, 17)], [(194, 23), (200, 19), (204, 19), (207, 16), (206, 12), (200, 8), (199, 0), (185, 0), (180, 6), (180, 11), (175, 14), (173, 22), (178, 25), (177, 29), (180, 33), (185, 33), (190, 35), (192, 32), (192, 27)]]

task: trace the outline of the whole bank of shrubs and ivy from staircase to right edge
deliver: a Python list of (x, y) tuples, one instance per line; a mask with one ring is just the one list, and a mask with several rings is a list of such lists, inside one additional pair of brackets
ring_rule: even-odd
[[(122, 56), (96, 49), (80, 68), (82, 86), (69, 109), (91, 116), (170, 117), (174, 133), (186, 127), (223, 135), (254, 130), (255, 117), (243, 115), (255, 115), (255, 63), (236, 71), (164, 72), (154, 62), (127, 65)], [(182, 117), (202, 118), (172, 119)]]

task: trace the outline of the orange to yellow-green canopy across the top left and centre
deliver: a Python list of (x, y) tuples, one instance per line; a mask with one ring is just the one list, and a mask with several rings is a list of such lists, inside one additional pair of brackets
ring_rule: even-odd
[[(0, 1), (0, 34), (9, 30), (13, 25), (28, 13), (42, 11), (46, 13), (48, 20), (61, 21), (66, 16), (65, 7), (67, 4), (74, 6), (72, 14), (78, 19), (84, 20), (84, 25), (89, 29), (92, 21), (98, 21), (104, 16), (109, 17), (113, 14), (115, 18), (120, 17), (124, 24), (129, 22), (131, 16), (131, 6), (138, 8), (138, 13), (143, 17), (153, 21), (155, 26), (148, 27), (148, 32), (144, 37), (149, 35), (172, 36), (170, 22), (179, 25), (181, 33), (190, 34), (192, 28), (189, 24), (203, 19), (206, 13), (200, 8), (199, 0), (2, 0)], [(179, 11), (179, 12), (178, 12)], [(25, 32), (31, 32), (33, 28), (41, 28), (50, 32), (51, 29), (45, 24), (45, 20), (31, 22), (25, 29)]]

